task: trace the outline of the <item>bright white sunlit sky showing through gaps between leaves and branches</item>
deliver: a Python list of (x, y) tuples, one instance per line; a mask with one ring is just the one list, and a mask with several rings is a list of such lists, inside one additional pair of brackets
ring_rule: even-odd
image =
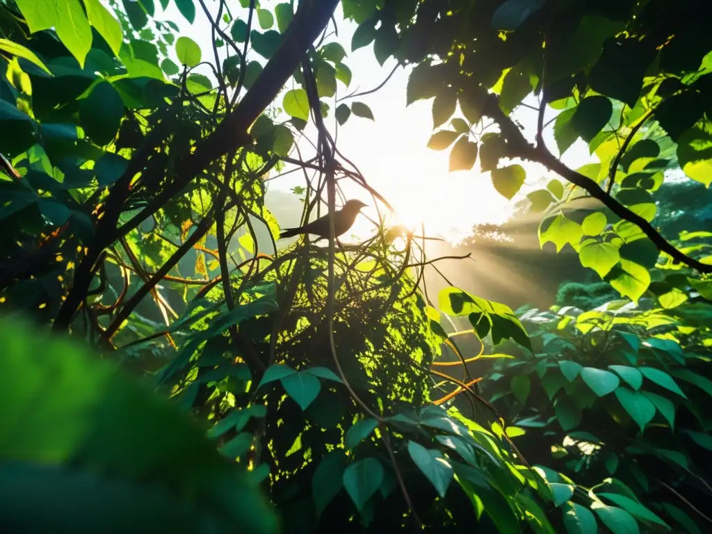
[[(266, 1), (263, 5), (266, 4), (266, 7), (271, 8), (276, 3), (276, 1)], [(208, 0), (207, 5), (211, 11), (216, 9), (214, 1)], [(198, 2), (196, 6), (198, 13), (193, 25), (183, 18), (174, 4), (169, 5), (162, 17), (157, 14), (157, 18), (177, 23), (182, 35), (199, 43), (203, 59), (209, 61), (212, 58), (210, 25)], [(233, 15), (239, 14), (233, 13)], [(360, 92), (376, 88), (387, 77), (396, 62), (389, 60), (383, 67), (379, 66), (373, 56), (372, 45), (352, 53), (350, 43), (355, 24), (342, 20), (340, 6), (337, 8), (335, 19), (339, 25), (339, 36), (332, 35), (329, 41), (338, 41), (345, 48), (347, 58), (344, 63), (353, 74), (348, 89), (338, 82), (337, 96), (352, 93), (355, 89)], [(332, 31), (333, 26), (329, 29)], [(449, 173), (450, 150), (437, 152), (426, 147), (432, 134), (432, 101), (421, 100), (406, 108), (407, 77), (408, 71), (399, 68), (377, 93), (346, 101), (347, 103), (361, 101), (367, 104), (375, 116), (375, 122), (352, 115), (344, 127), (337, 129), (333, 116), (336, 106), (333, 102), (330, 103), (331, 112), (327, 126), (332, 135), (336, 133), (340, 152), (359, 167), (370, 186), (377, 189), (394, 206), (399, 220), (407, 226), (419, 226), (423, 222), (427, 234), (440, 235), (456, 243), (468, 236), (471, 227), (475, 224), (506, 221), (515, 201), (532, 189), (541, 187), (540, 179), (547, 175), (546, 170), (538, 165), (523, 164), (527, 170), (527, 180), (520, 193), (511, 201), (496, 192), (489, 173), (479, 172), (479, 161), (471, 171)], [(533, 95), (525, 101), (537, 105)], [(281, 105), (281, 97), (276, 104)], [(553, 116), (547, 113), (545, 120)], [(513, 113), (513, 117), (524, 126), (528, 139), (533, 139), (536, 112), (520, 107)], [(316, 139), (313, 125), (310, 125), (305, 132), (311, 140)], [(557, 153), (551, 125), (545, 132), (545, 140), (550, 150)], [(299, 146), (305, 159), (314, 155), (308, 142), (300, 142)], [(294, 157), (297, 157), (296, 153)], [(588, 154), (586, 145), (578, 140), (566, 152), (563, 160), (577, 168), (592, 161), (592, 158)], [(303, 177), (298, 173), (269, 182), (269, 187), (284, 191), (298, 185), (303, 185)], [(349, 197), (358, 197), (372, 204), (370, 195), (362, 189), (347, 189), (347, 193)], [(375, 211), (372, 211), (372, 208), (365, 209), (365, 212), (375, 218)], [(362, 237), (370, 236), (373, 233), (372, 225), (364, 217), (360, 217), (353, 232)]]

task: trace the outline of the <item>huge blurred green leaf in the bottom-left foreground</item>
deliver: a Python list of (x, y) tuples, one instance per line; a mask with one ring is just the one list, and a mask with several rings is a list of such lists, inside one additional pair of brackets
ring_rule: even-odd
[[(9, 403), (0, 456), (14, 464), (0, 469), (0, 493), (13, 496), (2, 507), (5, 525), (100, 532), (110, 521), (129, 531), (138, 520), (197, 532), (207, 520), (229, 530), (278, 531), (244, 471), (226, 463), (174, 404), (83, 345), (15, 320), (0, 323), (0, 341), (0, 387)], [(47, 403), (42, 409), (38, 398)], [(172, 488), (175, 500), (158, 488)]]

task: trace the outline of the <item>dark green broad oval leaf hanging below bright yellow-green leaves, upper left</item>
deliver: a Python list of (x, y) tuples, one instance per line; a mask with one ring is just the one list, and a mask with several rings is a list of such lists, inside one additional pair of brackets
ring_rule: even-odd
[(79, 104), (84, 131), (97, 145), (107, 145), (116, 137), (124, 112), (124, 101), (108, 82), (96, 84)]

